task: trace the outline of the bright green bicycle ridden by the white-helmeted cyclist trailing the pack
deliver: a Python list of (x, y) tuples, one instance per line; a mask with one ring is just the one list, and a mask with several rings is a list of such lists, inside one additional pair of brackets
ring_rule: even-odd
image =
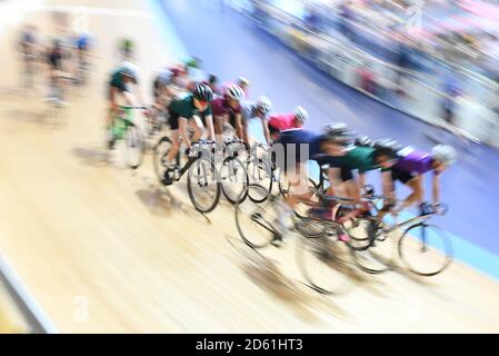
[(126, 145), (124, 161), (131, 169), (139, 168), (146, 154), (146, 141), (142, 130), (133, 122), (133, 110), (147, 110), (146, 107), (120, 107), (121, 112), (114, 116), (108, 130), (110, 148), (116, 141), (123, 140)]

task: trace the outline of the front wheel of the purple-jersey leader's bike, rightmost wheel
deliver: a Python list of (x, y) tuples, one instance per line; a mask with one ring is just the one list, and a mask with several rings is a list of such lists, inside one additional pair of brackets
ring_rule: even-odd
[(426, 222), (410, 226), (400, 238), (398, 249), (407, 268), (427, 277), (445, 270), (453, 258), (452, 244), (446, 233)]

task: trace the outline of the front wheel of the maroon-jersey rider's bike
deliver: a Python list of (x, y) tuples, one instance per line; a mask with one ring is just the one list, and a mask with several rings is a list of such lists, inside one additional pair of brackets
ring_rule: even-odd
[(219, 177), (223, 196), (230, 204), (241, 202), (246, 199), (244, 191), (249, 184), (248, 174), (239, 159), (227, 157), (221, 166)]

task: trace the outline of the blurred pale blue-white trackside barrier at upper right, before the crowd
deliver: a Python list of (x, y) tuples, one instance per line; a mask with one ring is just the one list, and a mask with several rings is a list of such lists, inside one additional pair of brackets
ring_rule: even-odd
[[(243, 13), (251, 10), (240, 1), (228, 3)], [(382, 61), (348, 41), (310, 30), (271, 6), (265, 6), (262, 14), (255, 20), (263, 30), (335, 79), (417, 119), (449, 128), (443, 119), (443, 102), (449, 97), (440, 90), (440, 77)], [(463, 88), (453, 102), (455, 125), (469, 139), (499, 148), (499, 112), (495, 111), (499, 86), (460, 66), (448, 70)]]

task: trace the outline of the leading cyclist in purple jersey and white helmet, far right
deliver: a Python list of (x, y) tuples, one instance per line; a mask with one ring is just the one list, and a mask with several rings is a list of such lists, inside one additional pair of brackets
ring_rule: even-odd
[[(420, 206), (423, 202), (422, 177), (425, 174), (432, 171), (432, 198), (435, 202), (440, 200), (440, 176), (456, 161), (456, 151), (447, 145), (438, 145), (431, 149), (431, 154), (423, 152), (412, 147), (406, 147), (400, 150), (400, 159), (390, 170), (383, 169), (388, 175), (389, 197), (395, 198), (395, 182), (401, 181), (411, 189), (411, 194), (401, 202), (399, 207), (395, 207), (393, 211), (398, 212), (415, 202)], [(386, 209), (392, 208), (391, 201)]]

